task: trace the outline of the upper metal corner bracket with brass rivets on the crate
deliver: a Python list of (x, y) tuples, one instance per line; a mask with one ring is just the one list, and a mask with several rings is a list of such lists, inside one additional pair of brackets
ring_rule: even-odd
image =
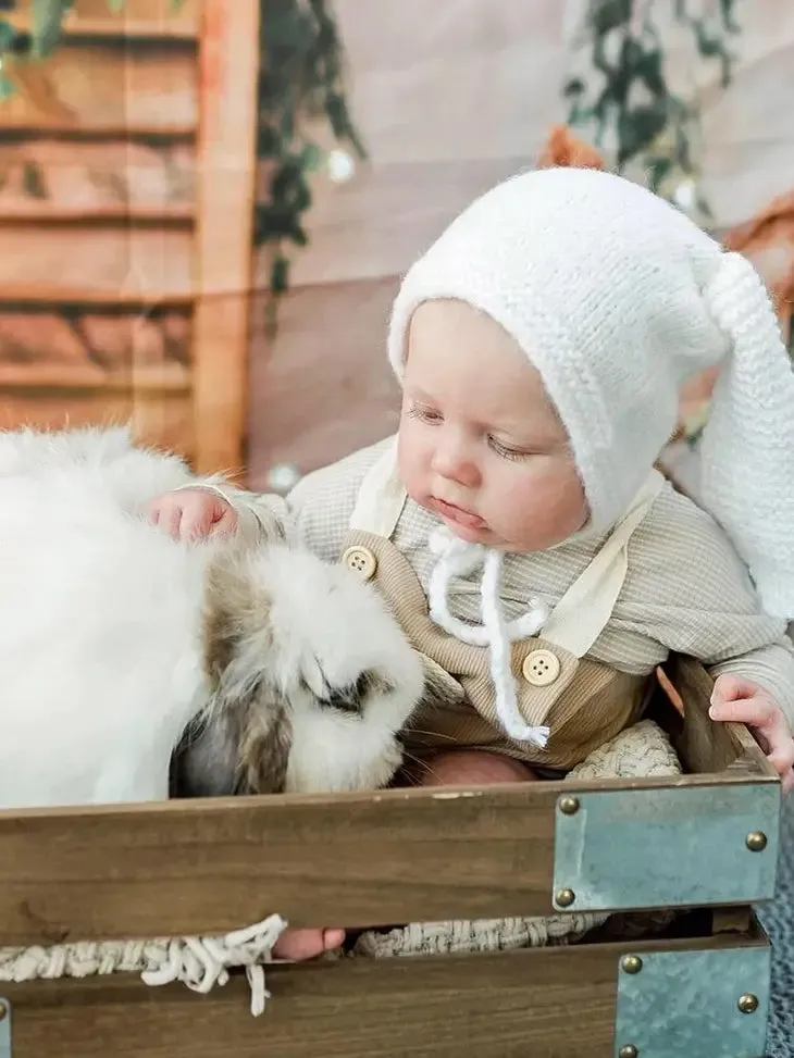
[(561, 795), (551, 900), (559, 911), (757, 904), (774, 896), (778, 783)]

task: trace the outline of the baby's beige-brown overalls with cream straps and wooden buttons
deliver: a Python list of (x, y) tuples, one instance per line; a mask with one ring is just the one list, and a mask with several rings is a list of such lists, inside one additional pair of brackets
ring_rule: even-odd
[(587, 658), (609, 621), (628, 568), (628, 544), (663, 477), (652, 473), (624, 518), (553, 610), (541, 636), (512, 644), (521, 715), (550, 729), (539, 748), (499, 729), (488, 648), (461, 643), (435, 625), (422, 586), (392, 543), (407, 495), (389, 448), (364, 478), (345, 542), (343, 561), (372, 581), (394, 610), (431, 675), (431, 699), (406, 734), (409, 752), (468, 747), (519, 758), (539, 768), (568, 770), (618, 732), (644, 707), (647, 676)]

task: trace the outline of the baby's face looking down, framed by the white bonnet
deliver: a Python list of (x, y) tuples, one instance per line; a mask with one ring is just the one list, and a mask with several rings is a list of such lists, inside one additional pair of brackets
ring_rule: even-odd
[(413, 314), (399, 468), (411, 498), (471, 543), (539, 551), (587, 520), (539, 374), (497, 323), (460, 301), (426, 301)]

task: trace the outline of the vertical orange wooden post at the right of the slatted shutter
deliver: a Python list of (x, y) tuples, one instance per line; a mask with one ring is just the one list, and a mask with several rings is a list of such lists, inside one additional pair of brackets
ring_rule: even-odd
[(194, 246), (196, 466), (244, 463), (252, 285), (259, 0), (204, 0)]

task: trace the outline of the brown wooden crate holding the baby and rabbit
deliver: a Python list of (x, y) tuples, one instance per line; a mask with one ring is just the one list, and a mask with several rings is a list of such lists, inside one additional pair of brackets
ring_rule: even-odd
[[(779, 807), (777, 776), (746, 730), (708, 721), (710, 682), (703, 670), (682, 662), (670, 679), (684, 717), (667, 708), (666, 722), (687, 767), (673, 781), (0, 812), (0, 941), (212, 934), (274, 911), (295, 925), (361, 928), (549, 914), (563, 795), (584, 804), (619, 791), (631, 806), (652, 791), (683, 806), (693, 792), (725, 802), (742, 792), (759, 805), (771, 795)], [(774, 857), (774, 822), (764, 850), (744, 849), (742, 831), (742, 855)], [(682, 859), (680, 879), (719, 851), (704, 846), (697, 863)], [(245, 979), (237, 978), (207, 996), (176, 984), (150, 988), (124, 974), (2, 984), (12, 1011), (11, 1055), (631, 1058), (625, 1048), (637, 1042), (638, 1054), (660, 1054), (617, 1035), (626, 1031), (623, 959), (634, 956), (646, 969), (678, 960), (670, 995), (655, 999), (655, 1031), (678, 1033), (683, 1048), (670, 1054), (760, 1058), (769, 943), (747, 906), (756, 896), (727, 907), (719, 893), (715, 879), (711, 895), (666, 935), (642, 941), (595, 935), (562, 948), (272, 967), (272, 998), (258, 1019), (248, 1010)], [(687, 978), (687, 967), (715, 959), (715, 976)], [(637, 1031), (650, 1028), (643, 1022)], [(757, 1054), (740, 1042), (747, 1032), (760, 1040)], [(715, 1033), (733, 1033), (736, 1050), (709, 1049)]]

